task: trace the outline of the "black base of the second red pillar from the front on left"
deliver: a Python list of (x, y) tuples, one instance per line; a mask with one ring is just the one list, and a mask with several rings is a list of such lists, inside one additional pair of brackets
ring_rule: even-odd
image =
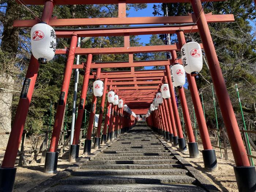
[(58, 155), (58, 152), (46, 152), (44, 173), (57, 173)]

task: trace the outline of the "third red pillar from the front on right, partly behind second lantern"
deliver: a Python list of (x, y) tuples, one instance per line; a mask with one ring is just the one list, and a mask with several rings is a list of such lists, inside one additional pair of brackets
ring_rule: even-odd
[[(172, 61), (175, 63), (177, 61), (176, 51), (171, 51), (172, 54)], [(189, 157), (190, 158), (197, 158), (199, 157), (198, 145), (195, 142), (195, 136), (193, 134), (193, 128), (191, 125), (191, 119), (188, 111), (187, 100), (185, 97), (184, 87), (178, 89), (178, 93), (180, 95), (180, 102), (183, 112), (183, 117), (185, 121), (185, 128), (188, 135), (188, 150), (189, 150)]]

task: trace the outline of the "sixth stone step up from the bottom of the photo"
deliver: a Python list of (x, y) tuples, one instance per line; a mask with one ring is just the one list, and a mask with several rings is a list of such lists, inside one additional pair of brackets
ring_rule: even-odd
[(101, 160), (146, 160), (146, 159), (173, 159), (173, 156), (170, 155), (150, 155), (150, 156), (116, 156), (116, 157), (94, 157), (91, 158), (93, 161), (101, 161)]

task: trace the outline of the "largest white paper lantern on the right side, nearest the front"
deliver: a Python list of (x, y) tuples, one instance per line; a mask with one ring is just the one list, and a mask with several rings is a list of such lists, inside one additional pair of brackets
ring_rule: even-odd
[(182, 65), (185, 72), (191, 76), (198, 75), (203, 68), (202, 49), (197, 42), (187, 42), (181, 48)]

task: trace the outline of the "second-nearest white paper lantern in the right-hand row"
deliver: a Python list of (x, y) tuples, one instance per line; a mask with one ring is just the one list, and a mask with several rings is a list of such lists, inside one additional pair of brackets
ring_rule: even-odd
[(186, 81), (184, 67), (179, 63), (175, 63), (171, 67), (171, 75), (172, 75), (173, 86), (179, 89), (182, 88), (182, 86), (184, 86)]

